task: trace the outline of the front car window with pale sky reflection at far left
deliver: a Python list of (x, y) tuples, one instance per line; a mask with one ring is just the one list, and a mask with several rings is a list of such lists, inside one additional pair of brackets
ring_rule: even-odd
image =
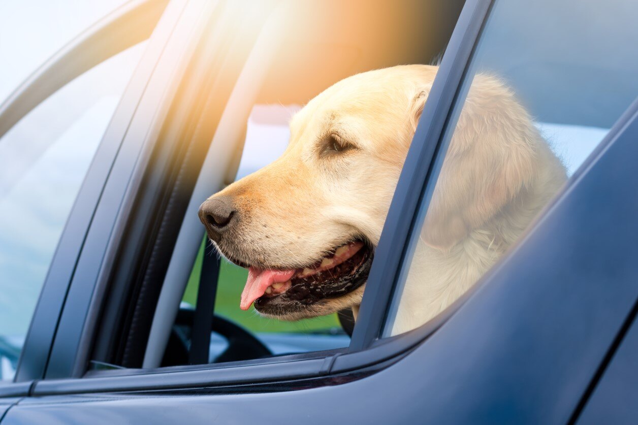
[(0, 373), (11, 379), (89, 164), (145, 43), (111, 57), (0, 138)]

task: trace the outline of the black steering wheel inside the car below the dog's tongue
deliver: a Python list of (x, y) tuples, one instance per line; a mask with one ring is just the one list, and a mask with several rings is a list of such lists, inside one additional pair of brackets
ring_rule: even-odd
[[(175, 318), (175, 325), (168, 338), (162, 366), (188, 364), (190, 331), (193, 328), (194, 318), (195, 310), (189, 308), (179, 309), (177, 318)], [(183, 329), (184, 327), (186, 327), (186, 330)], [(262, 341), (227, 318), (214, 315), (211, 331), (223, 336), (228, 341), (228, 348), (213, 360), (214, 363), (258, 359), (272, 355), (271, 350), (263, 345)]]

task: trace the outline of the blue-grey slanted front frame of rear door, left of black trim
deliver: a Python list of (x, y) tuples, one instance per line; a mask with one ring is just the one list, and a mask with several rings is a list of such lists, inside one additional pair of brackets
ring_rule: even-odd
[[(118, 134), (119, 147), (105, 176), (104, 188), (94, 209), (81, 250), (75, 257), (73, 274), (57, 324), (44, 378), (78, 377), (85, 368), (85, 356), (98, 323), (94, 309), (105, 295), (100, 285), (114, 262), (114, 246), (124, 230), (118, 224), (131, 210), (131, 193), (142, 183), (145, 164), (151, 158), (154, 140), (179, 89), (179, 79), (195, 49), (193, 22), (206, 7), (217, 2), (171, 0), (149, 39), (152, 61), (145, 61), (145, 72), (134, 74), (140, 87), (131, 91), (131, 101), (122, 100), (124, 123), (114, 119), (107, 129)], [(142, 59), (144, 61), (144, 59)], [(137, 71), (136, 71), (137, 72)], [(132, 81), (133, 81), (132, 80)], [(125, 91), (125, 96), (129, 93)], [(128, 108), (126, 108), (128, 106)], [(119, 112), (116, 110), (116, 113)], [(84, 373), (84, 370), (82, 370)]]

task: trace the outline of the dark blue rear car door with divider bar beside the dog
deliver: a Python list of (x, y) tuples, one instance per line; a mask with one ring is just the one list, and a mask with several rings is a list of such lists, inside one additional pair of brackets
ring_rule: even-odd
[[(501, 11), (498, 4), (494, 7)], [(386, 330), (392, 329), (392, 299), (400, 306), (401, 282), (412, 261), (410, 246), (419, 237), (447, 140), (463, 107), (464, 87), (473, 76), (477, 39), (493, 35), (485, 24), (490, 8), (487, 1), (468, 2), (450, 39), (347, 350), (172, 368), (122, 368), (106, 362), (109, 370), (87, 371), (94, 353), (82, 348), (82, 341), (89, 338), (64, 325), (70, 338), (60, 339), (62, 347), (54, 343), (60, 354), (51, 356), (50, 364), (56, 365), (51, 375), (47, 371), (48, 379), (36, 382), (30, 397), (13, 406), (4, 421), (577, 419), (638, 299), (638, 270), (632, 261), (637, 230), (632, 218), (638, 208), (625, 196), (638, 184), (631, 160), (637, 153), (632, 143), (638, 123), (635, 103), (613, 117), (616, 123), (600, 146), (473, 290), (414, 331), (392, 335)], [(200, 237), (195, 234), (194, 252)], [(91, 316), (86, 301), (80, 307), (84, 316), (66, 319), (76, 326)], [(64, 347), (73, 347), (66, 353), (71, 355), (61, 355)]]

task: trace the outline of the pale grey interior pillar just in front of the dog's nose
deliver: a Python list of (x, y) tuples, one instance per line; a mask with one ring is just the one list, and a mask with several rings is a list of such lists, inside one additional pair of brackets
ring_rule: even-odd
[[(283, 8), (273, 9), (271, 6), (267, 5), (261, 10), (257, 23), (255, 15), (251, 17), (235, 7), (225, 8), (222, 12), (224, 16), (219, 17), (219, 34), (212, 34), (211, 40), (206, 43), (213, 57), (223, 58), (219, 60), (225, 66), (224, 69), (211, 67), (211, 63), (218, 61), (209, 60), (209, 63), (205, 63), (204, 60), (202, 68), (226, 83), (215, 84), (207, 93), (207, 105), (201, 118), (207, 124), (202, 124), (200, 121), (198, 130), (191, 137), (193, 139), (191, 143), (205, 144), (202, 153), (204, 162), (197, 166), (187, 165), (187, 167), (198, 167), (199, 172), (184, 215), (178, 218), (181, 221), (179, 234), (175, 243), (170, 246), (172, 253), (152, 317), (142, 368), (158, 367), (168, 343), (168, 332), (177, 317), (179, 300), (182, 299), (186, 289), (187, 277), (192, 271), (204, 237), (204, 228), (197, 214), (202, 199), (229, 184), (229, 175), (235, 175), (239, 167), (241, 160), (239, 153), (246, 138), (246, 128), (238, 123), (244, 123), (248, 119), (253, 97), (256, 96), (263, 80), (263, 72), (260, 71), (268, 68), (267, 64), (272, 59), (272, 44), (276, 43), (276, 38), (282, 35), (276, 30), (278, 27), (276, 23), (283, 17), (281, 12), (284, 10)], [(238, 13), (241, 18), (237, 16)], [(251, 28), (244, 27), (242, 36), (224, 41), (223, 34), (226, 33), (224, 25), (237, 19), (241, 19), (244, 26), (251, 24)], [(258, 31), (255, 32), (255, 30)], [(248, 38), (254, 40), (254, 43), (245, 50)], [(223, 52), (218, 51), (219, 43), (232, 45), (228, 47), (228, 52), (232, 51), (233, 54), (224, 56)], [(234, 74), (229, 75), (229, 70)], [(232, 89), (226, 91), (222, 89), (223, 86)], [(211, 128), (211, 124), (214, 127)], [(153, 347), (161, 348), (155, 352)]]

